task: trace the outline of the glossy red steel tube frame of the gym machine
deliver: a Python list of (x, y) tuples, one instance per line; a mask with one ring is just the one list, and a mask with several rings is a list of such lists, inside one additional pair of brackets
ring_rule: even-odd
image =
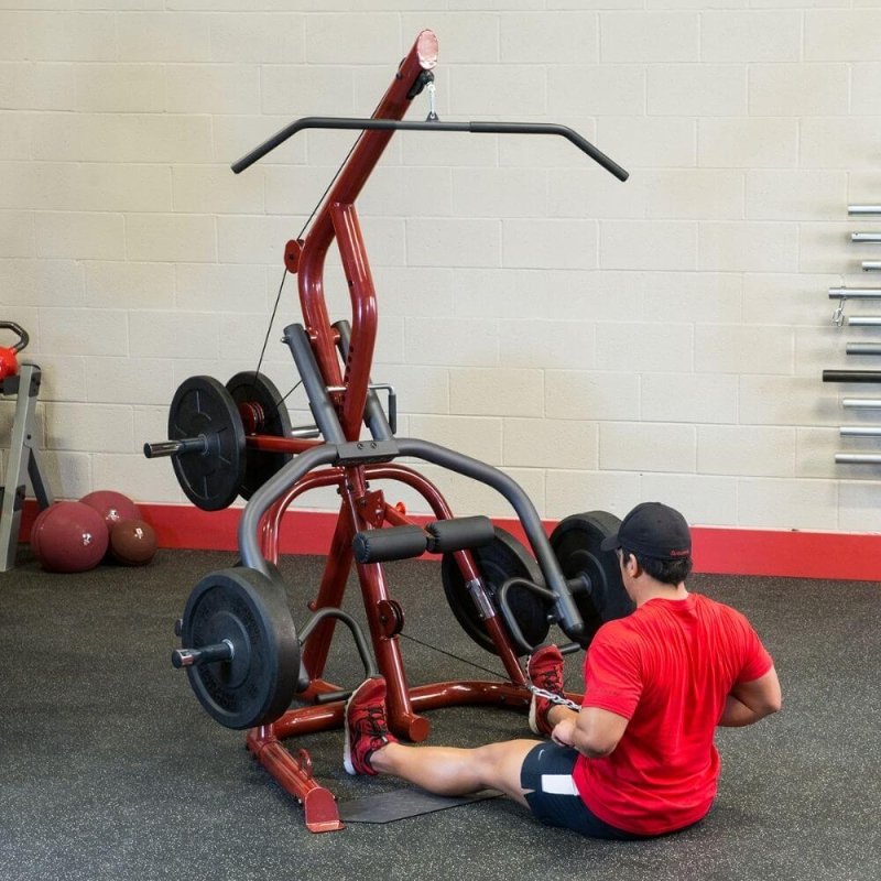
[[(373, 118), (400, 120), (406, 112), (414, 85), (424, 70), (434, 66), (437, 41), (431, 31), (423, 31), (406, 57)], [(365, 417), (370, 382), (370, 368), (377, 336), (377, 297), (370, 274), (365, 241), (358, 224), (355, 200), (388, 145), (393, 131), (365, 131), (341, 170), (339, 177), (317, 213), (306, 238), (289, 243), (285, 263), (298, 279), (300, 301), (305, 329), (316, 361), (340, 420), (347, 440), (357, 440)], [(351, 336), (345, 371), (340, 369), (337, 351), (338, 334), (331, 326), (324, 297), (323, 272), (330, 243), (336, 239), (352, 304)], [(248, 444), (262, 450), (298, 453), (319, 440), (251, 435)], [(336, 530), (325, 565), (324, 576), (312, 610), (339, 607), (354, 563), (352, 539), (361, 530), (383, 524), (412, 523), (403, 510), (385, 502), (381, 491), (371, 491), (369, 480), (398, 480), (410, 486), (428, 502), (438, 520), (452, 516), (437, 488), (418, 472), (398, 464), (333, 467), (313, 471), (297, 481), (279, 499), (261, 522), (263, 555), (278, 562), (278, 537), (284, 511), (307, 490), (335, 486), (342, 498)], [(467, 551), (455, 554), (466, 583), (478, 577), (472, 555)], [(370, 638), (377, 665), (388, 684), (389, 725), (394, 733), (412, 741), (423, 741), (429, 731), (424, 710), (466, 704), (497, 705), (513, 709), (529, 706), (530, 693), (525, 676), (500, 619), (485, 621), (510, 682), (442, 682), (411, 686), (407, 683), (395, 628), (389, 624), (390, 595), (382, 567), (378, 563), (356, 564), (367, 612)], [(305, 700), (340, 687), (323, 678), (330, 649), (335, 619), (322, 621), (309, 635), (303, 663), (311, 684), (302, 693)], [(248, 749), (278, 783), (297, 798), (305, 811), (306, 826), (312, 831), (342, 828), (336, 801), (313, 776), (312, 762), (305, 750), (296, 755), (282, 740), (314, 731), (341, 727), (344, 703), (314, 704), (289, 710), (275, 722), (248, 732)]]

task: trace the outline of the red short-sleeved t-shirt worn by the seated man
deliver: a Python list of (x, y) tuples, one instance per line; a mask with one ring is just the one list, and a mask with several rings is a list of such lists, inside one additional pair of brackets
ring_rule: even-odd
[(588, 808), (638, 835), (700, 819), (716, 795), (714, 733), (726, 698), (772, 664), (740, 612), (698, 594), (651, 599), (603, 624), (585, 657), (583, 706), (630, 721), (609, 755), (578, 757), (574, 777)]

